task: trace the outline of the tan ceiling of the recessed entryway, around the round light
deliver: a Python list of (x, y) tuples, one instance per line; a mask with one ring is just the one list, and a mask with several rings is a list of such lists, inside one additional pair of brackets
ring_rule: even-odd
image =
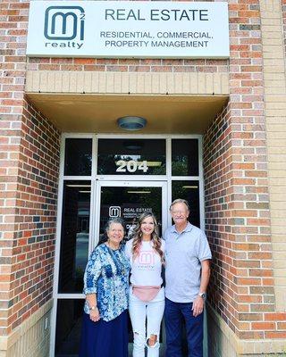
[(86, 95), (27, 94), (63, 132), (128, 133), (117, 119), (147, 119), (142, 134), (203, 134), (227, 103), (227, 95)]

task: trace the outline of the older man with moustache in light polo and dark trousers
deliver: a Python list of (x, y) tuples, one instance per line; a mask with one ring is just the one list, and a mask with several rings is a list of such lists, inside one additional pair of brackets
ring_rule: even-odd
[(185, 320), (188, 356), (203, 357), (204, 303), (212, 258), (205, 233), (188, 221), (189, 203), (172, 202), (174, 225), (164, 233), (166, 357), (182, 357)]

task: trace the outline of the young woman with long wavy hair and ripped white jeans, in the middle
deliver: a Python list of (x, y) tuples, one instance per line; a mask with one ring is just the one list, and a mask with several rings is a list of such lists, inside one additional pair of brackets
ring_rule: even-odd
[(144, 357), (146, 346), (147, 357), (158, 357), (164, 314), (164, 241), (159, 237), (153, 213), (140, 215), (125, 253), (131, 266), (129, 311), (134, 336), (133, 357)]

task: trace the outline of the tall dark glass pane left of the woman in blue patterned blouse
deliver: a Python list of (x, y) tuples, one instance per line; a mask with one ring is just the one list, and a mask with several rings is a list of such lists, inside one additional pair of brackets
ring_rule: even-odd
[(88, 261), (90, 181), (65, 181), (59, 292), (81, 293)]

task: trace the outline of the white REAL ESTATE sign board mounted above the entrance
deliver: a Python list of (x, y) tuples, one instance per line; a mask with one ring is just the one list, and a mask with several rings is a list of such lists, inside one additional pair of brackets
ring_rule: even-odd
[(27, 55), (227, 58), (226, 2), (31, 1)]

